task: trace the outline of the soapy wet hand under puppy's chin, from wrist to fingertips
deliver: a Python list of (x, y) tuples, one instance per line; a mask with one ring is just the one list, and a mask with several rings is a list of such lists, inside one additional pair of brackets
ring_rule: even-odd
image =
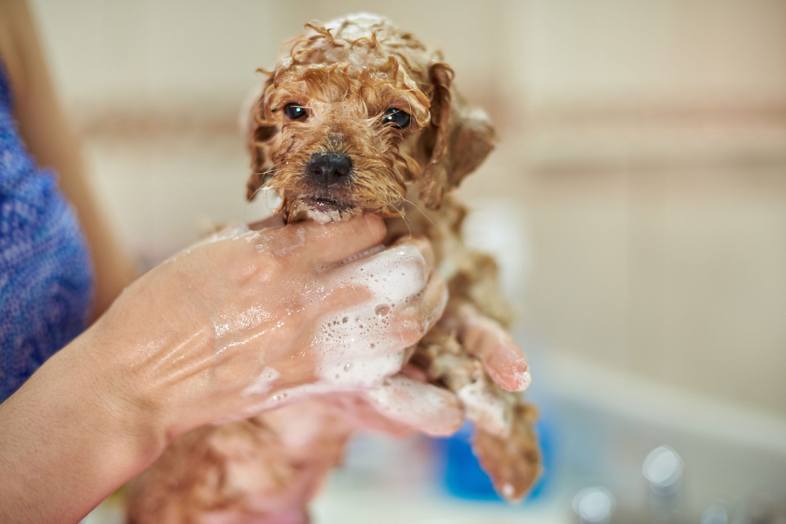
[(427, 241), (376, 247), (384, 235), (376, 217), (214, 235), (134, 282), (85, 333), (90, 357), (110, 367), (107, 391), (173, 436), (336, 391), (369, 391), (382, 409), (432, 395), (454, 428), (452, 395), (388, 379), (446, 287)]

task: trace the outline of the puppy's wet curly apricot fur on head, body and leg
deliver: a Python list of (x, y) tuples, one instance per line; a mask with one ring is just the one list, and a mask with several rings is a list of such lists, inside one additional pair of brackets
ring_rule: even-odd
[[(367, 13), (306, 24), (285, 46), (248, 118), (248, 198), (276, 191), (288, 222), (371, 212), (387, 218), (390, 240), (426, 235), (450, 282), (446, 317), (469, 307), (505, 325), (496, 264), (465, 248), (465, 209), (450, 196), (494, 147), (494, 129), (457, 93), (441, 53)], [(400, 129), (386, 119), (398, 111), (408, 117)], [(310, 171), (315, 155), (340, 155), (351, 173), (341, 173), (338, 184), (319, 184)], [(432, 329), (411, 354), (410, 364), (433, 384), (452, 391), (471, 386), (498, 402), (501, 424), (473, 418), (468, 407), (477, 427), (474, 449), (498, 492), (520, 499), (540, 470), (534, 408), (490, 380), (450, 322)], [(130, 519), (307, 522), (306, 504), (340, 461), (353, 428), (331, 402), (312, 401), (191, 431), (131, 483)]]

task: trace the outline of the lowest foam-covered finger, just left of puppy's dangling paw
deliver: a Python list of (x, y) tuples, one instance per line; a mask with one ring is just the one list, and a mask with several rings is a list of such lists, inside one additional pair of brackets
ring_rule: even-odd
[(464, 421), (464, 408), (453, 393), (403, 375), (365, 391), (365, 398), (384, 417), (428, 435), (451, 435)]

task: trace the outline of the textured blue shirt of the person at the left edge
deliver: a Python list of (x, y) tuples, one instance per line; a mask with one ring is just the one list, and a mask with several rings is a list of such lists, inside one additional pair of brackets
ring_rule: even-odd
[(0, 64), (0, 402), (85, 329), (92, 300), (79, 221), (24, 147)]

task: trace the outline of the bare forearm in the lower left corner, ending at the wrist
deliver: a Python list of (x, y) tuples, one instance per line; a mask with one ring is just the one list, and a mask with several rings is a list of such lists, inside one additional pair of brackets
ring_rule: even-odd
[(111, 391), (92, 349), (88, 332), (0, 404), (3, 522), (79, 522), (163, 452), (153, 414)]

